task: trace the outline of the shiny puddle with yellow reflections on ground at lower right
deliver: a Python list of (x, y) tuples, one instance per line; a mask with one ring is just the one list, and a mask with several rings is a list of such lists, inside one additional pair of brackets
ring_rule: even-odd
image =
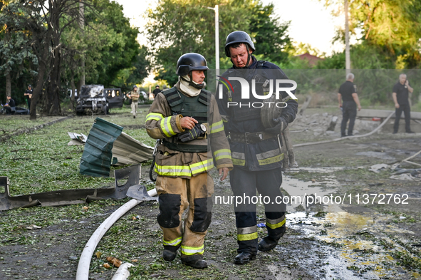
[[(323, 170), (327, 175), (317, 183), (303, 182), (286, 175), (282, 187), (289, 196), (330, 196), (340, 184), (328, 173), (340, 169), (316, 168), (306, 171), (318, 172), (314, 170)], [(420, 274), (407, 271), (393, 259), (392, 255), (396, 250), (406, 250), (390, 237), (403, 233), (414, 234), (400, 229), (399, 224), (390, 223), (395, 219), (393, 215), (345, 212), (346, 208), (341, 209), (340, 204), (324, 204), (323, 213), (297, 212), (294, 209), (297, 206), (298, 204), (287, 205), (287, 227), (301, 232), (303, 241), (301, 246), (297, 244), (291, 248), (284, 247), (286, 252), (283, 254), (291, 255), (293, 264), (300, 266), (298, 269), (305, 269), (316, 279), (421, 279)], [(318, 217), (316, 214), (325, 215)], [(298, 237), (288, 237), (290, 238)], [(384, 244), (390, 244), (390, 247)], [(296, 256), (303, 254), (300, 252), (303, 246), (307, 247), (308, 256)], [(288, 269), (271, 266), (270, 270), (276, 277), (280, 271)]]

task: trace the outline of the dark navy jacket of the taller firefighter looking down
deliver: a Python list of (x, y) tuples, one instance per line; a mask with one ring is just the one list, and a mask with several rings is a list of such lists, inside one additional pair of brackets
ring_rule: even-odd
[[(269, 87), (268, 81), (273, 81), (272, 90), (274, 91), (276, 79), (288, 78), (274, 63), (256, 61), (254, 56), (251, 58), (249, 67), (241, 69), (232, 67), (222, 74), (222, 79), (219, 81), (224, 81), (226, 84), (229, 81), (229, 86), (218, 86), (222, 88), (223, 94), (222, 98), (219, 98), (217, 94), (217, 103), (230, 140), (234, 166), (250, 171), (272, 170), (282, 165), (284, 154), (279, 145), (283, 144), (281, 138), (278, 140), (276, 135), (264, 133), (264, 125), (260, 117), (261, 104), (264, 100), (256, 98), (251, 90), (254, 90), (257, 95), (264, 95)], [(241, 83), (229, 80), (229, 77), (243, 78), (249, 83), (249, 99), (241, 99)], [(290, 86), (285, 85), (286, 88)], [(289, 98), (286, 92), (281, 92), (279, 101), (281, 100), (286, 102), (281, 117), (291, 123), (296, 117), (298, 103)], [(237, 105), (228, 105), (229, 102)], [(257, 139), (250, 141), (250, 136)]]

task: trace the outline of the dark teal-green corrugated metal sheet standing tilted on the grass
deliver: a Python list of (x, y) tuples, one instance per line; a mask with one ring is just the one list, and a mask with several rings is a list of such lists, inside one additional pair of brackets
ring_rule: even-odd
[(94, 177), (110, 177), (113, 162), (113, 143), (120, 136), (123, 127), (96, 118), (90, 129), (85, 149), (80, 159), (80, 173)]

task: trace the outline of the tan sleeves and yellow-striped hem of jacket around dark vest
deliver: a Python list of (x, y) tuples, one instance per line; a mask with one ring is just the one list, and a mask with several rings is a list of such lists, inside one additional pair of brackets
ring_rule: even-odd
[[(182, 93), (178, 83), (175, 87)], [(208, 172), (214, 165), (217, 169), (228, 167), (229, 170), (232, 170), (231, 152), (224, 133), (222, 118), (219, 115), (214, 96), (210, 94), (209, 96), (207, 141), (210, 148), (208, 152), (180, 152), (171, 150), (165, 145), (160, 145), (155, 157), (155, 172), (158, 175), (189, 178)], [(178, 133), (184, 132), (180, 125), (181, 118), (182, 115), (173, 114), (165, 95), (158, 93), (146, 116), (145, 128), (147, 134), (151, 138), (164, 138), (168, 142), (173, 142), (172, 140)], [(202, 140), (192, 140), (191, 142), (194, 143), (194, 141)]]

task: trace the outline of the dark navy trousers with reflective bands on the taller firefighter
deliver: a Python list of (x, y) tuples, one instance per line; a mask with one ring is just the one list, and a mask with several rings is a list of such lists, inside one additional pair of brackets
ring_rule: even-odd
[[(264, 203), (266, 229), (271, 239), (278, 241), (285, 233), (286, 205), (282, 202), (281, 168), (264, 171), (249, 171), (235, 168), (229, 172), (229, 181), (234, 192), (234, 211), (237, 224), (237, 252), (257, 254), (258, 234), (256, 226), (256, 204)], [(256, 189), (259, 196), (256, 196)], [(240, 202), (239, 197), (243, 203)], [(237, 204), (237, 205), (236, 205)]]

